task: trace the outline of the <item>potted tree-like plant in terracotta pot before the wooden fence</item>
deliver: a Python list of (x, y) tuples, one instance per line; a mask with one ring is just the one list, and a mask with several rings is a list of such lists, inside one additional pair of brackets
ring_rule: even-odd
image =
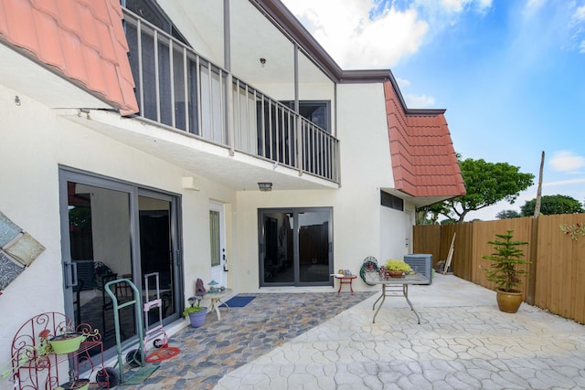
[(493, 241), (488, 244), (494, 246), (495, 252), (482, 258), (492, 261), (491, 269), (487, 272), (487, 279), (495, 283), (497, 306), (500, 311), (514, 313), (518, 311), (522, 303), (522, 277), (527, 277), (526, 269), (518, 268), (530, 261), (524, 259), (524, 252), (518, 248), (527, 245), (527, 241), (514, 241), (514, 230), (506, 230), (505, 234), (496, 234)]

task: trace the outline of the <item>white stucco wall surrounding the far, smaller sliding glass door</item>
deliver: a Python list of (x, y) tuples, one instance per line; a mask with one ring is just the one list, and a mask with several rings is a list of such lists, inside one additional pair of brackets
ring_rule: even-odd
[[(408, 214), (380, 206), (380, 187), (393, 186), (382, 86), (340, 86), (339, 106), (340, 189), (238, 193), (237, 290), (259, 290), (259, 208), (333, 207), (334, 269), (358, 273), (367, 256), (403, 256)], [(387, 236), (392, 238), (382, 243)], [(361, 279), (354, 285), (371, 290)]]

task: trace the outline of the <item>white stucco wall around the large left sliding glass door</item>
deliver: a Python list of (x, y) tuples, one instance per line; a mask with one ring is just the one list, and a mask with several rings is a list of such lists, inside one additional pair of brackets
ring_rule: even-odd
[[(21, 103), (14, 102), (18, 95)], [(121, 142), (59, 118), (55, 111), (0, 86), (0, 210), (46, 250), (0, 296), (0, 364), (9, 362), (18, 327), (45, 311), (64, 311), (58, 207), (58, 166), (101, 174), (181, 196), (185, 295), (195, 279), (208, 279), (209, 199), (233, 204), (235, 193)], [(199, 191), (182, 188), (197, 176)], [(227, 208), (231, 224), (233, 206)], [(231, 252), (232, 238), (228, 239)], [(230, 277), (230, 275), (229, 275)], [(8, 379), (0, 389), (12, 388)]]

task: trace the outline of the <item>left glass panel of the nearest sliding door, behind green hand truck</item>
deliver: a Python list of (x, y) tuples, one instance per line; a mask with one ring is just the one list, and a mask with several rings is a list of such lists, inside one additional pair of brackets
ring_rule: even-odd
[[(113, 302), (104, 286), (132, 279), (130, 194), (75, 182), (67, 182), (67, 190), (70, 260), (77, 269), (73, 320), (98, 329), (107, 349), (115, 345), (115, 330)], [(122, 286), (111, 290), (118, 304), (132, 299)], [(136, 335), (133, 306), (119, 315), (122, 339)]]

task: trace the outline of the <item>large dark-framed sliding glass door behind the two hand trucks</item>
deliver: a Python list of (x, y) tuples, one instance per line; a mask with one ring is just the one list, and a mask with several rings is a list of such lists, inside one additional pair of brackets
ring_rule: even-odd
[[(122, 340), (137, 335), (138, 320), (158, 325), (159, 311), (164, 323), (178, 319), (178, 197), (65, 169), (59, 176), (69, 319), (98, 329), (104, 348), (114, 346), (114, 301), (104, 287), (120, 279), (136, 286), (141, 304), (161, 299), (160, 308), (141, 319), (135, 318), (134, 305), (119, 311)], [(128, 283), (112, 284), (110, 290), (118, 305), (133, 300)]]

